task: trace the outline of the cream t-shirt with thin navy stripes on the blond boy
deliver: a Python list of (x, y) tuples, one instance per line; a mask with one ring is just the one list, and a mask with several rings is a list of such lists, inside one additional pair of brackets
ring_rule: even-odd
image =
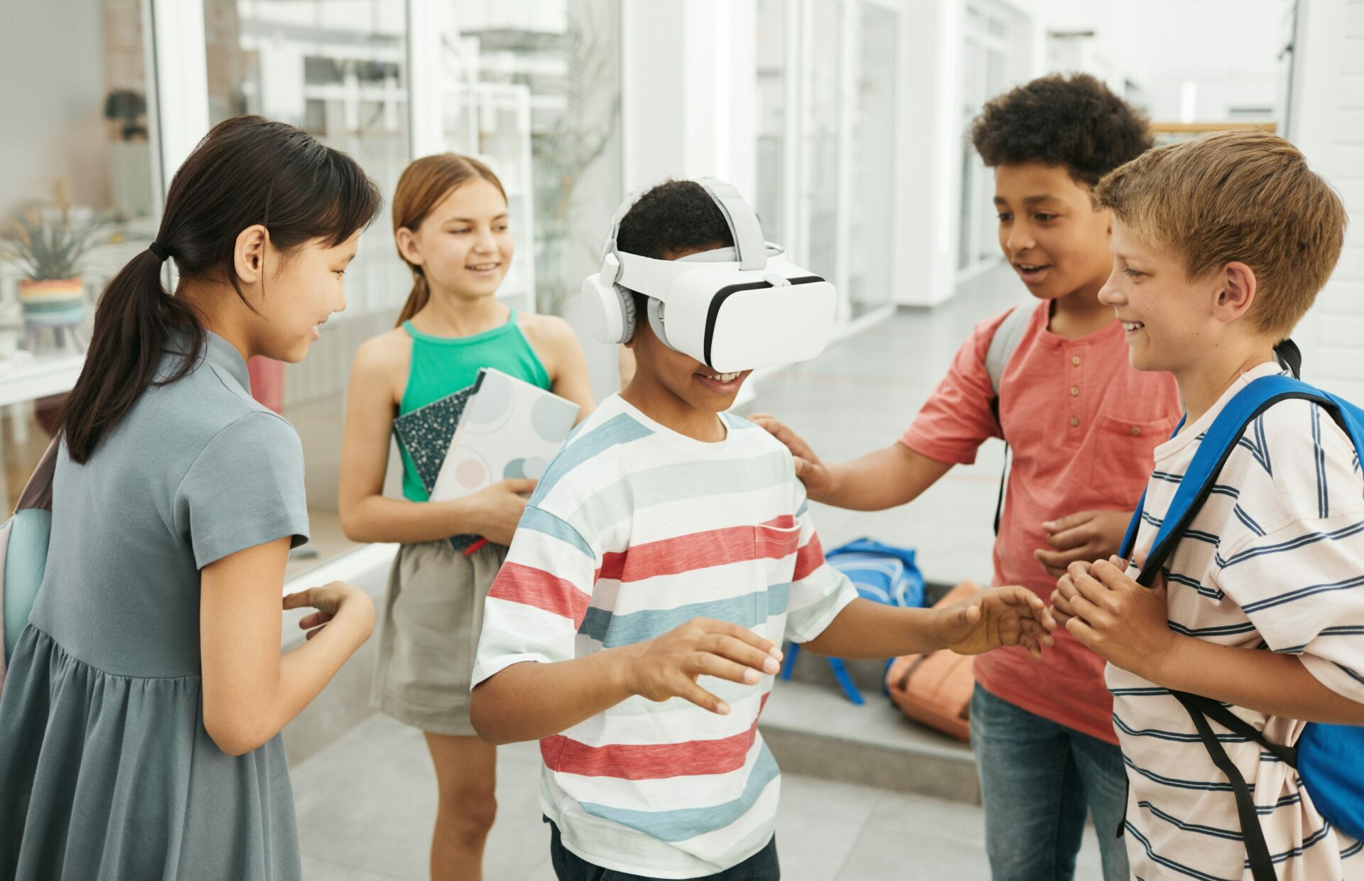
[[(1230, 398), (1278, 368), (1244, 374), (1198, 423), (1155, 450), (1128, 574), (1136, 577), (1181, 476)], [(1296, 655), (1329, 689), (1364, 702), (1364, 477), (1330, 413), (1275, 404), (1247, 428), (1213, 494), (1166, 561), (1170, 629), (1222, 645)], [(1166, 689), (1106, 671), (1127, 761), (1127, 851), (1136, 878), (1251, 878), (1232, 787)], [(1233, 706), (1292, 745), (1303, 721)], [(1360, 841), (1322, 820), (1293, 768), (1213, 730), (1255, 790), (1279, 881), (1364, 878)]]

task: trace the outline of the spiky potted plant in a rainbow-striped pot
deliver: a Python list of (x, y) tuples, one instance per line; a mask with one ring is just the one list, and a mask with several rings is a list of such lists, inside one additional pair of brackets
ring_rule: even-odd
[(63, 206), (19, 214), (7, 230), (11, 256), (25, 265), (19, 307), (29, 350), (40, 327), (67, 330), (76, 346), (85, 348), (79, 330), (86, 315), (80, 262), (100, 244), (102, 228), (98, 218), (74, 220)]

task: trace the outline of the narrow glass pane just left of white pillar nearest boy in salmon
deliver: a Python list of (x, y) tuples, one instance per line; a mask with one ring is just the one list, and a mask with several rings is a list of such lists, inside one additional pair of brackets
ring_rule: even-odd
[(898, 12), (862, 4), (850, 157), (855, 199), (848, 217), (848, 296), (854, 318), (891, 303), (893, 293), (899, 34)]

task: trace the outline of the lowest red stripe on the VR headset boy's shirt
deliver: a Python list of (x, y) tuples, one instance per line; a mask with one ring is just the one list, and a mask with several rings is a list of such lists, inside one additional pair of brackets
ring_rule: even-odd
[[(762, 696), (758, 716), (767, 706)], [(554, 772), (584, 777), (618, 780), (662, 780), (697, 775), (728, 773), (743, 766), (753, 749), (758, 720), (747, 731), (719, 741), (685, 741), (682, 743), (608, 743), (588, 746), (557, 734), (540, 741), (540, 757)]]

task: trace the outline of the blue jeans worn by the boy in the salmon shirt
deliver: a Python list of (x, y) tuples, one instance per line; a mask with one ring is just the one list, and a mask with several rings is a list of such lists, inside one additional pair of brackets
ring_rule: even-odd
[(1019, 709), (975, 686), (971, 747), (985, 803), (985, 850), (994, 881), (1069, 881), (1094, 816), (1103, 881), (1127, 881), (1117, 837), (1127, 810), (1123, 751)]

